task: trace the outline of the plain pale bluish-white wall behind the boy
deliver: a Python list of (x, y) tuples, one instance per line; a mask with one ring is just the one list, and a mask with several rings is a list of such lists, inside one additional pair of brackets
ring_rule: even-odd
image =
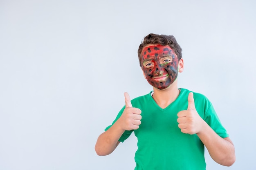
[(236, 147), (207, 170), (255, 170), (253, 0), (0, 0), (0, 170), (132, 170), (136, 137), (109, 156), (97, 137), (152, 87), (137, 49), (149, 33), (182, 47), (179, 88), (206, 95)]

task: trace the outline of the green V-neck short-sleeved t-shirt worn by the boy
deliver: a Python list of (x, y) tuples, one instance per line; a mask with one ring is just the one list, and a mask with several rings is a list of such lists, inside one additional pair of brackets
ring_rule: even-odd
[[(206, 169), (204, 144), (196, 134), (184, 134), (178, 127), (177, 113), (187, 109), (190, 92), (184, 88), (180, 90), (177, 99), (164, 109), (156, 104), (151, 92), (131, 101), (133, 107), (141, 109), (141, 125), (137, 130), (126, 130), (119, 141), (124, 142), (134, 131), (138, 139), (135, 170)], [(194, 93), (194, 99), (195, 108), (200, 117), (220, 137), (228, 137), (211, 102), (199, 93)], [(121, 116), (124, 108), (125, 106), (120, 110), (115, 121)]]

